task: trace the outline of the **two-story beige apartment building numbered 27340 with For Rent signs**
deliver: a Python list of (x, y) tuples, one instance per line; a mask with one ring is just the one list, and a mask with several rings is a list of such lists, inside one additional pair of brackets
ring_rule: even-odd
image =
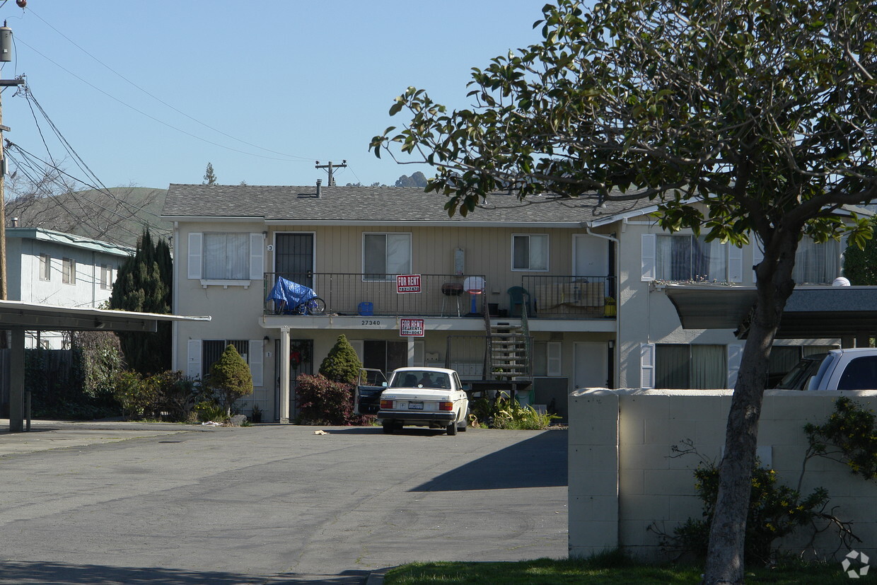
[[(175, 324), (173, 367), (202, 377), (232, 343), (253, 372), (244, 410), (282, 421), (296, 415), (296, 375), (315, 372), (340, 334), (366, 367), (523, 380), (525, 398), (562, 415), (576, 388), (732, 382), (742, 342), (681, 329), (661, 283), (752, 286), (757, 249), (661, 232), (647, 201), (494, 194), (467, 218), (443, 205), (410, 188), (171, 185), (175, 310), (213, 317)], [(839, 257), (834, 244), (802, 246), (799, 282), (831, 283)], [(419, 279), (400, 292), (396, 275)], [(326, 314), (278, 314), (266, 302), (278, 276), (314, 289)], [(401, 334), (410, 318), (422, 336)], [(785, 364), (836, 340), (783, 343)]]

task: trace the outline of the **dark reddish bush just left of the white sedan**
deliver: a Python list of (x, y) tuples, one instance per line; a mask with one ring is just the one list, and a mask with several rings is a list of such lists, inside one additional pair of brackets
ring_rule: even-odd
[(299, 424), (369, 424), (373, 417), (353, 414), (353, 386), (324, 375), (296, 378)]

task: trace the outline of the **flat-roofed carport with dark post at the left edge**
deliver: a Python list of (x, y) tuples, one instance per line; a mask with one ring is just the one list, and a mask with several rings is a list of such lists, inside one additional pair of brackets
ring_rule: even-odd
[(11, 331), (9, 430), (24, 431), (25, 331), (158, 331), (159, 321), (210, 321), (210, 317), (182, 317), (126, 310), (59, 307), (0, 301), (0, 330)]

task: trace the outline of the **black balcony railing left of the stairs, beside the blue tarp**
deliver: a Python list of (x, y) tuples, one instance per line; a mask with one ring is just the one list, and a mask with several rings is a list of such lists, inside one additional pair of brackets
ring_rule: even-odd
[[(277, 277), (303, 284), (326, 303), (326, 313), (334, 315), (376, 315), (411, 317), (466, 317), (483, 315), (483, 294), (470, 295), (463, 289), (467, 278), (483, 275), (419, 275), (419, 292), (398, 292), (396, 275), (362, 275), (341, 273), (265, 274), (265, 296)], [(265, 301), (265, 314), (274, 315), (274, 301)]]

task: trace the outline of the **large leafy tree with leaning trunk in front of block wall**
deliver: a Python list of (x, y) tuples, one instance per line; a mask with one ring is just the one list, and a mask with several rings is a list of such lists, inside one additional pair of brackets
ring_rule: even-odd
[[(473, 70), (470, 109), (410, 88), (374, 153), (436, 166), (449, 214), (488, 193), (649, 197), (660, 226), (763, 248), (731, 401), (705, 581), (742, 582), (767, 359), (799, 239), (870, 237), (834, 212), (877, 196), (877, 6), (858, 0), (546, 5), (542, 40)], [(418, 156), (419, 155), (419, 156)], [(405, 161), (410, 161), (406, 158)], [(618, 194), (618, 191), (621, 193)]]

